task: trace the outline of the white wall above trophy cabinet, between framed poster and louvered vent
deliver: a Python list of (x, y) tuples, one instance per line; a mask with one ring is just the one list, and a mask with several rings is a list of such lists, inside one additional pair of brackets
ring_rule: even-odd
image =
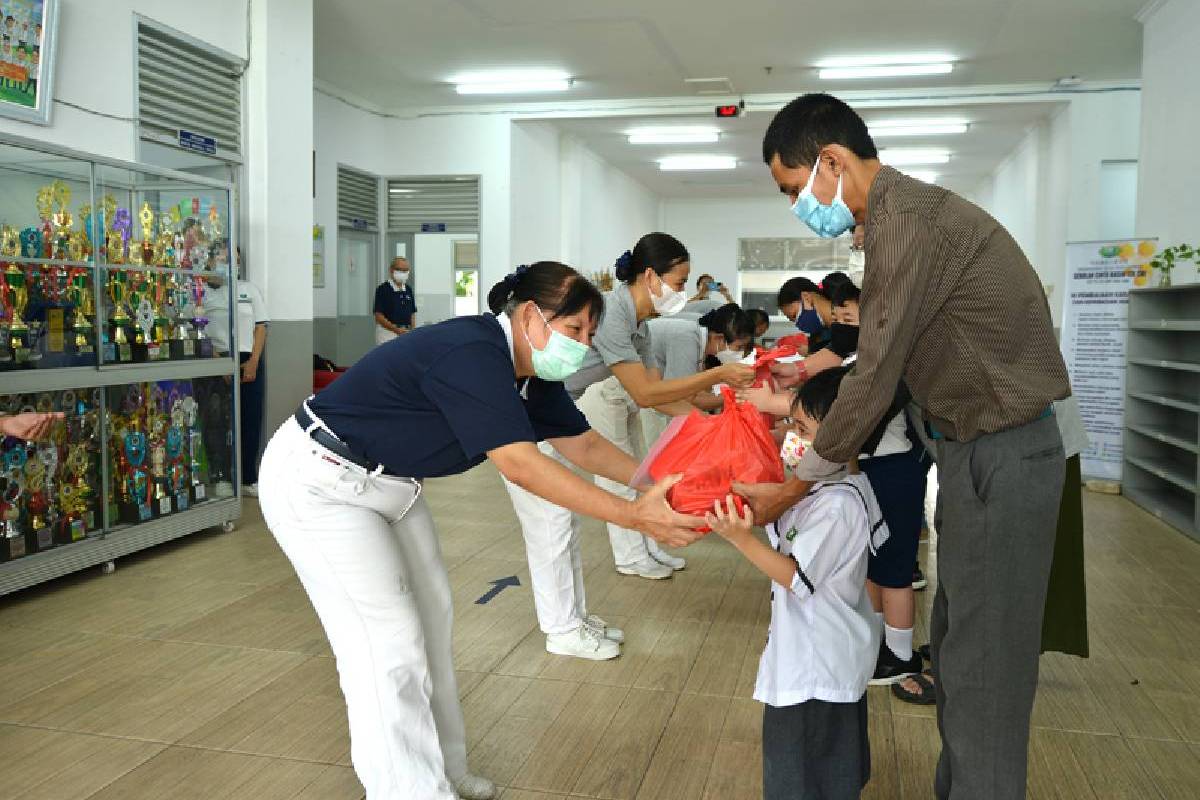
[(49, 126), (0, 119), (0, 131), (88, 154), (133, 160), (137, 152), (133, 14), (140, 13), (245, 59), (246, 2), (60, 0), (54, 97), (119, 119), (55, 103)]

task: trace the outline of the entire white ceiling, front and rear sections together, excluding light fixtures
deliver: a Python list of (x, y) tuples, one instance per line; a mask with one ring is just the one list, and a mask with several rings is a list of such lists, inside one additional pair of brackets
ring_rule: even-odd
[[(1141, 72), (1141, 25), (1134, 17), (1145, 2), (316, 0), (314, 72), (318, 85), (394, 113), (480, 107), (520, 112), (533, 101), (550, 101), (546, 108), (560, 109), (546, 115), (556, 118), (553, 124), (664, 197), (761, 197), (770, 188), (760, 148), (772, 112), (755, 109), (751, 102), (748, 116), (720, 121), (719, 145), (702, 146), (635, 146), (622, 134), (638, 125), (712, 125), (710, 115), (628, 114), (668, 113), (652, 107), (688, 97), (695, 98), (691, 113), (739, 96), (752, 101), (811, 90), (860, 98), (919, 97), (967, 94), (979, 86), (1049, 89), (1068, 76), (1093, 84), (1130, 83)], [(822, 82), (814, 68), (835, 56), (913, 53), (952, 55), (955, 70), (929, 78)], [(564, 70), (575, 76), (575, 85), (554, 95), (498, 97), (458, 96), (450, 83), (463, 72), (534, 67)], [(685, 78), (728, 83), (721, 84), (719, 96), (701, 96)], [(630, 100), (647, 102), (642, 112), (614, 116), (614, 101)], [(965, 134), (895, 140), (904, 146), (950, 148), (952, 162), (935, 169), (940, 184), (958, 191), (974, 188), (1031, 124), (1061, 107), (1058, 102), (988, 104), (978, 98), (958, 101), (971, 103), (962, 107), (936, 108), (919, 100), (896, 102), (913, 107), (860, 110), (869, 121), (920, 116), (971, 121)], [(736, 155), (739, 166), (715, 173), (658, 170), (656, 157), (689, 151)]]

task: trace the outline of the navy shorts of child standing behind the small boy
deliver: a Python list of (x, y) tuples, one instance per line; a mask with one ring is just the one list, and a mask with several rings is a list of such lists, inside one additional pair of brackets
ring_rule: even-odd
[(908, 452), (859, 461), (890, 531), (883, 547), (866, 560), (866, 577), (884, 589), (912, 585), (929, 473), (923, 453), (920, 446), (914, 446)]

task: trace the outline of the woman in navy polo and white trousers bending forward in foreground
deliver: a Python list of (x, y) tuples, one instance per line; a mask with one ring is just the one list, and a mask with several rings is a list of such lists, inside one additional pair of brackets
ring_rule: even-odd
[[(637, 464), (589, 429), (563, 389), (604, 300), (575, 270), (521, 267), (493, 314), (377, 347), (276, 432), (263, 456), (263, 517), (329, 637), (350, 757), (368, 800), (491, 798), (467, 772), (450, 656), (450, 585), (421, 479), (491, 459), (511, 482), (674, 546), (703, 522), (674, 513), (664, 481), (637, 501), (539, 452), (551, 441), (588, 473), (629, 483)], [(457, 793), (457, 794), (456, 794)]]

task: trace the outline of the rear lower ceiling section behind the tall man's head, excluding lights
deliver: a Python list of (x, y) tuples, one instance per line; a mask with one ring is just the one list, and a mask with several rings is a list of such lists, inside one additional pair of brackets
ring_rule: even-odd
[[(938, 148), (952, 151), (950, 162), (936, 167), (914, 167), (938, 173), (938, 185), (968, 192), (991, 173), (1025, 136), (1027, 128), (1062, 107), (1061, 103), (1012, 103), (992, 106), (863, 109), (871, 122), (919, 120), (923, 118), (960, 118), (970, 122), (966, 133), (941, 137), (880, 138), (876, 144), (902, 148)], [(736, 120), (712, 116), (670, 119), (601, 118), (556, 120), (562, 131), (578, 138), (610, 163), (641, 181), (662, 197), (763, 197), (775, 191), (767, 167), (762, 163), (762, 137), (773, 112), (755, 113)], [(721, 130), (718, 144), (707, 145), (631, 145), (625, 132), (634, 127), (658, 125), (715, 125)], [(661, 156), (712, 152), (738, 158), (737, 169), (696, 173), (662, 173), (656, 160)]]

